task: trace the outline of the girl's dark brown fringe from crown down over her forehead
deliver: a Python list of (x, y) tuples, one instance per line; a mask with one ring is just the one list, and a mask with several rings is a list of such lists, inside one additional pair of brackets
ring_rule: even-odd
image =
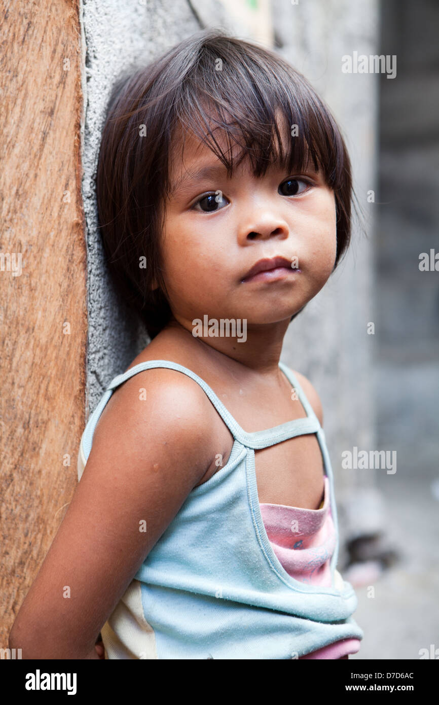
[(229, 177), (248, 159), (256, 177), (270, 166), (290, 173), (314, 168), (329, 188), (342, 188), (345, 147), (335, 121), (301, 74), (270, 58), (264, 50), (258, 61), (256, 47), (234, 57), (233, 43), (225, 56), (221, 47), (203, 47), (175, 94), (171, 132), (180, 127), (183, 139), (186, 132), (198, 137)]

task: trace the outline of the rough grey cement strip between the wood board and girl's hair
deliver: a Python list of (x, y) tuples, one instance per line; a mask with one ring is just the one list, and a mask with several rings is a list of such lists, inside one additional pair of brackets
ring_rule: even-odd
[(128, 367), (148, 338), (113, 292), (97, 231), (94, 188), (106, 104), (118, 75), (133, 62), (148, 63), (199, 24), (184, 1), (82, 0), (85, 35), (85, 126), (82, 195), (87, 223), (88, 313), (87, 399), (94, 410), (104, 388)]

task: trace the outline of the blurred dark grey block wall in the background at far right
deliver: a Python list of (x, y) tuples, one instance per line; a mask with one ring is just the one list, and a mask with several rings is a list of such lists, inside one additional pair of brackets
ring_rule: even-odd
[(439, 476), (439, 273), (419, 270), (421, 252), (439, 251), (438, 23), (431, 1), (383, 4), (381, 44), (398, 74), (381, 80), (378, 428), (415, 482)]

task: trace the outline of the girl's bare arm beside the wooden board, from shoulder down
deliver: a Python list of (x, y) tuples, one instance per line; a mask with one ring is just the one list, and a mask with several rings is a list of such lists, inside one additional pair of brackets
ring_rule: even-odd
[(173, 370), (142, 372), (116, 390), (13, 623), (9, 643), (23, 658), (99, 658), (102, 625), (212, 462), (210, 414), (199, 386)]

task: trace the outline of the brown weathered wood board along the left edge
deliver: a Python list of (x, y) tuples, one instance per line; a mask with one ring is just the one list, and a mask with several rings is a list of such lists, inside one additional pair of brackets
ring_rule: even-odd
[(87, 309), (79, 2), (6, 2), (0, 21), (0, 647), (6, 648), (77, 482)]

